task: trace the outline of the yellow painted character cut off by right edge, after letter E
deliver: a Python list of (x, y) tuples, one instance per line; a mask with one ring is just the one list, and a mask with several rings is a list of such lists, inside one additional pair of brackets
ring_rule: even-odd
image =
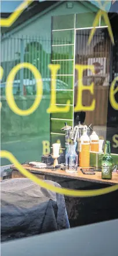
[(118, 110), (118, 102), (116, 102), (115, 100), (115, 94), (118, 92), (118, 86), (115, 88), (116, 81), (118, 81), (118, 76), (116, 76), (116, 78), (112, 82), (112, 85), (110, 86), (109, 100), (110, 100), (111, 106), (115, 108), (115, 110)]

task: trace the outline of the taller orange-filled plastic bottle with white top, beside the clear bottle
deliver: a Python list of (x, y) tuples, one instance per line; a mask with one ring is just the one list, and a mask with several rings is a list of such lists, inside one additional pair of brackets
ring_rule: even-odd
[(90, 167), (90, 138), (87, 131), (83, 132), (79, 142), (79, 166)]

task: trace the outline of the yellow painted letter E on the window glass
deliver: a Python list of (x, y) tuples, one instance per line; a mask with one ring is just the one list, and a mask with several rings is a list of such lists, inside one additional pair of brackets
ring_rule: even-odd
[(83, 90), (90, 90), (91, 94), (94, 94), (94, 83), (91, 83), (90, 86), (83, 85), (83, 71), (90, 69), (94, 73), (94, 65), (75, 65), (75, 69), (78, 70), (78, 94), (77, 94), (77, 103), (74, 111), (93, 111), (95, 109), (95, 99), (91, 103), (91, 106), (82, 105), (82, 93)]

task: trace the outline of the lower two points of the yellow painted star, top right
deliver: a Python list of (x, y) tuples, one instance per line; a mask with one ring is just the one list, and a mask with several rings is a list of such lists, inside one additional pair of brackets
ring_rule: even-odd
[(93, 29), (91, 29), (90, 36), (89, 36), (89, 39), (88, 39), (88, 44), (91, 43), (91, 40), (92, 40), (92, 38), (94, 36), (94, 33), (95, 33), (95, 30), (96, 30), (95, 27), (97, 27), (97, 25), (99, 23), (99, 17), (100, 16), (104, 17), (105, 24), (106, 24), (106, 26), (108, 26), (108, 32), (109, 32), (110, 39), (111, 39), (112, 43), (114, 44), (115, 41), (114, 41), (114, 38), (113, 38), (113, 33), (112, 33), (112, 28), (110, 26), (108, 13), (106, 13), (104, 10), (98, 10), (97, 15), (95, 16), (95, 19), (94, 19), (94, 22), (93, 22)]

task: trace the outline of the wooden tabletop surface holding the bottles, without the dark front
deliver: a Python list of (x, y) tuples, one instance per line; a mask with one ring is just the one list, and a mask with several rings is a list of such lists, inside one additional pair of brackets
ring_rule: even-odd
[[(52, 171), (50, 169), (39, 169), (29, 166), (28, 164), (22, 165), (24, 169), (30, 171), (31, 173), (35, 174), (42, 174), (42, 175), (50, 175), (50, 176), (57, 176), (57, 177), (65, 177), (65, 178), (72, 178), (75, 180), (83, 180), (83, 181), (90, 181), (94, 183), (104, 183), (104, 184), (118, 184), (118, 174), (112, 173), (112, 180), (102, 180), (101, 178), (101, 171), (96, 171), (95, 174), (83, 174), (82, 171), (80, 171), (80, 168), (78, 168), (77, 173), (67, 173), (63, 170), (56, 170)], [(17, 170), (15, 166), (10, 167), (12, 170)], [(19, 170), (17, 170), (19, 171)]]

